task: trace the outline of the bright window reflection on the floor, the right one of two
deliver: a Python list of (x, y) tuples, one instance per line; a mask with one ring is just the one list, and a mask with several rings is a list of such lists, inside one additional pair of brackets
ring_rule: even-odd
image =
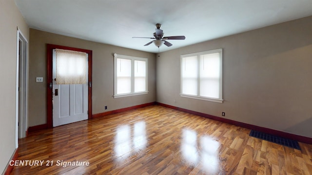
[(218, 170), (219, 142), (204, 135), (199, 139), (197, 133), (190, 129), (182, 130), (181, 153), (187, 166), (201, 165), (202, 170), (214, 174)]

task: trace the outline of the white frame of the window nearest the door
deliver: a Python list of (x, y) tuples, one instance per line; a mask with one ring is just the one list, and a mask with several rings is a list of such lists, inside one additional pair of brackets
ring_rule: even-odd
[[(124, 94), (117, 94), (117, 58), (121, 59), (130, 59), (131, 60), (131, 92), (130, 93), (124, 93)], [(134, 62), (138, 61), (145, 61), (145, 71), (146, 71), (146, 79), (145, 79), (145, 91), (141, 92), (135, 92), (135, 64)], [(135, 57), (135, 56), (127, 56), (127, 55), (121, 55), (114, 53), (114, 98), (120, 98), (120, 97), (128, 97), (128, 96), (134, 96), (134, 95), (142, 95), (148, 93), (148, 59), (147, 58), (141, 58), (141, 57)]]

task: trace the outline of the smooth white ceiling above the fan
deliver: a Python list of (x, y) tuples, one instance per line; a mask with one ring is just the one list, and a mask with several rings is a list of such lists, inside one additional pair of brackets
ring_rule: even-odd
[[(159, 53), (312, 15), (312, 0), (15, 0), (29, 27)], [(171, 47), (143, 46), (155, 24)]]

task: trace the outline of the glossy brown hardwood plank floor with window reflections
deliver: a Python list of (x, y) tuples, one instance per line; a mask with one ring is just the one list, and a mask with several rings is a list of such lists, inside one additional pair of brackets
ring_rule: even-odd
[[(30, 133), (18, 160), (42, 166), (11, 175), (312, 175), (312, 145), (299, 151), (249, 133), (152, 105)], [(89, 165), (62, 166), (73, 162)]]

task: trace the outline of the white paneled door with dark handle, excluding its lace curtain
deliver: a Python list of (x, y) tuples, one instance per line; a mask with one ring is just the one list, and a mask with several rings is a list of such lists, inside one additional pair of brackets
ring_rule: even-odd
[[(86, 56), (87, 58), (88, 56)], [(56, 83), (56, 65), (56, 55), (53, 51), (53, 127), (87, 120), (88, 80), (85, 84), (58, 85)], [(86, 73), (88, 72), (87, 68), (86, 66)]]

